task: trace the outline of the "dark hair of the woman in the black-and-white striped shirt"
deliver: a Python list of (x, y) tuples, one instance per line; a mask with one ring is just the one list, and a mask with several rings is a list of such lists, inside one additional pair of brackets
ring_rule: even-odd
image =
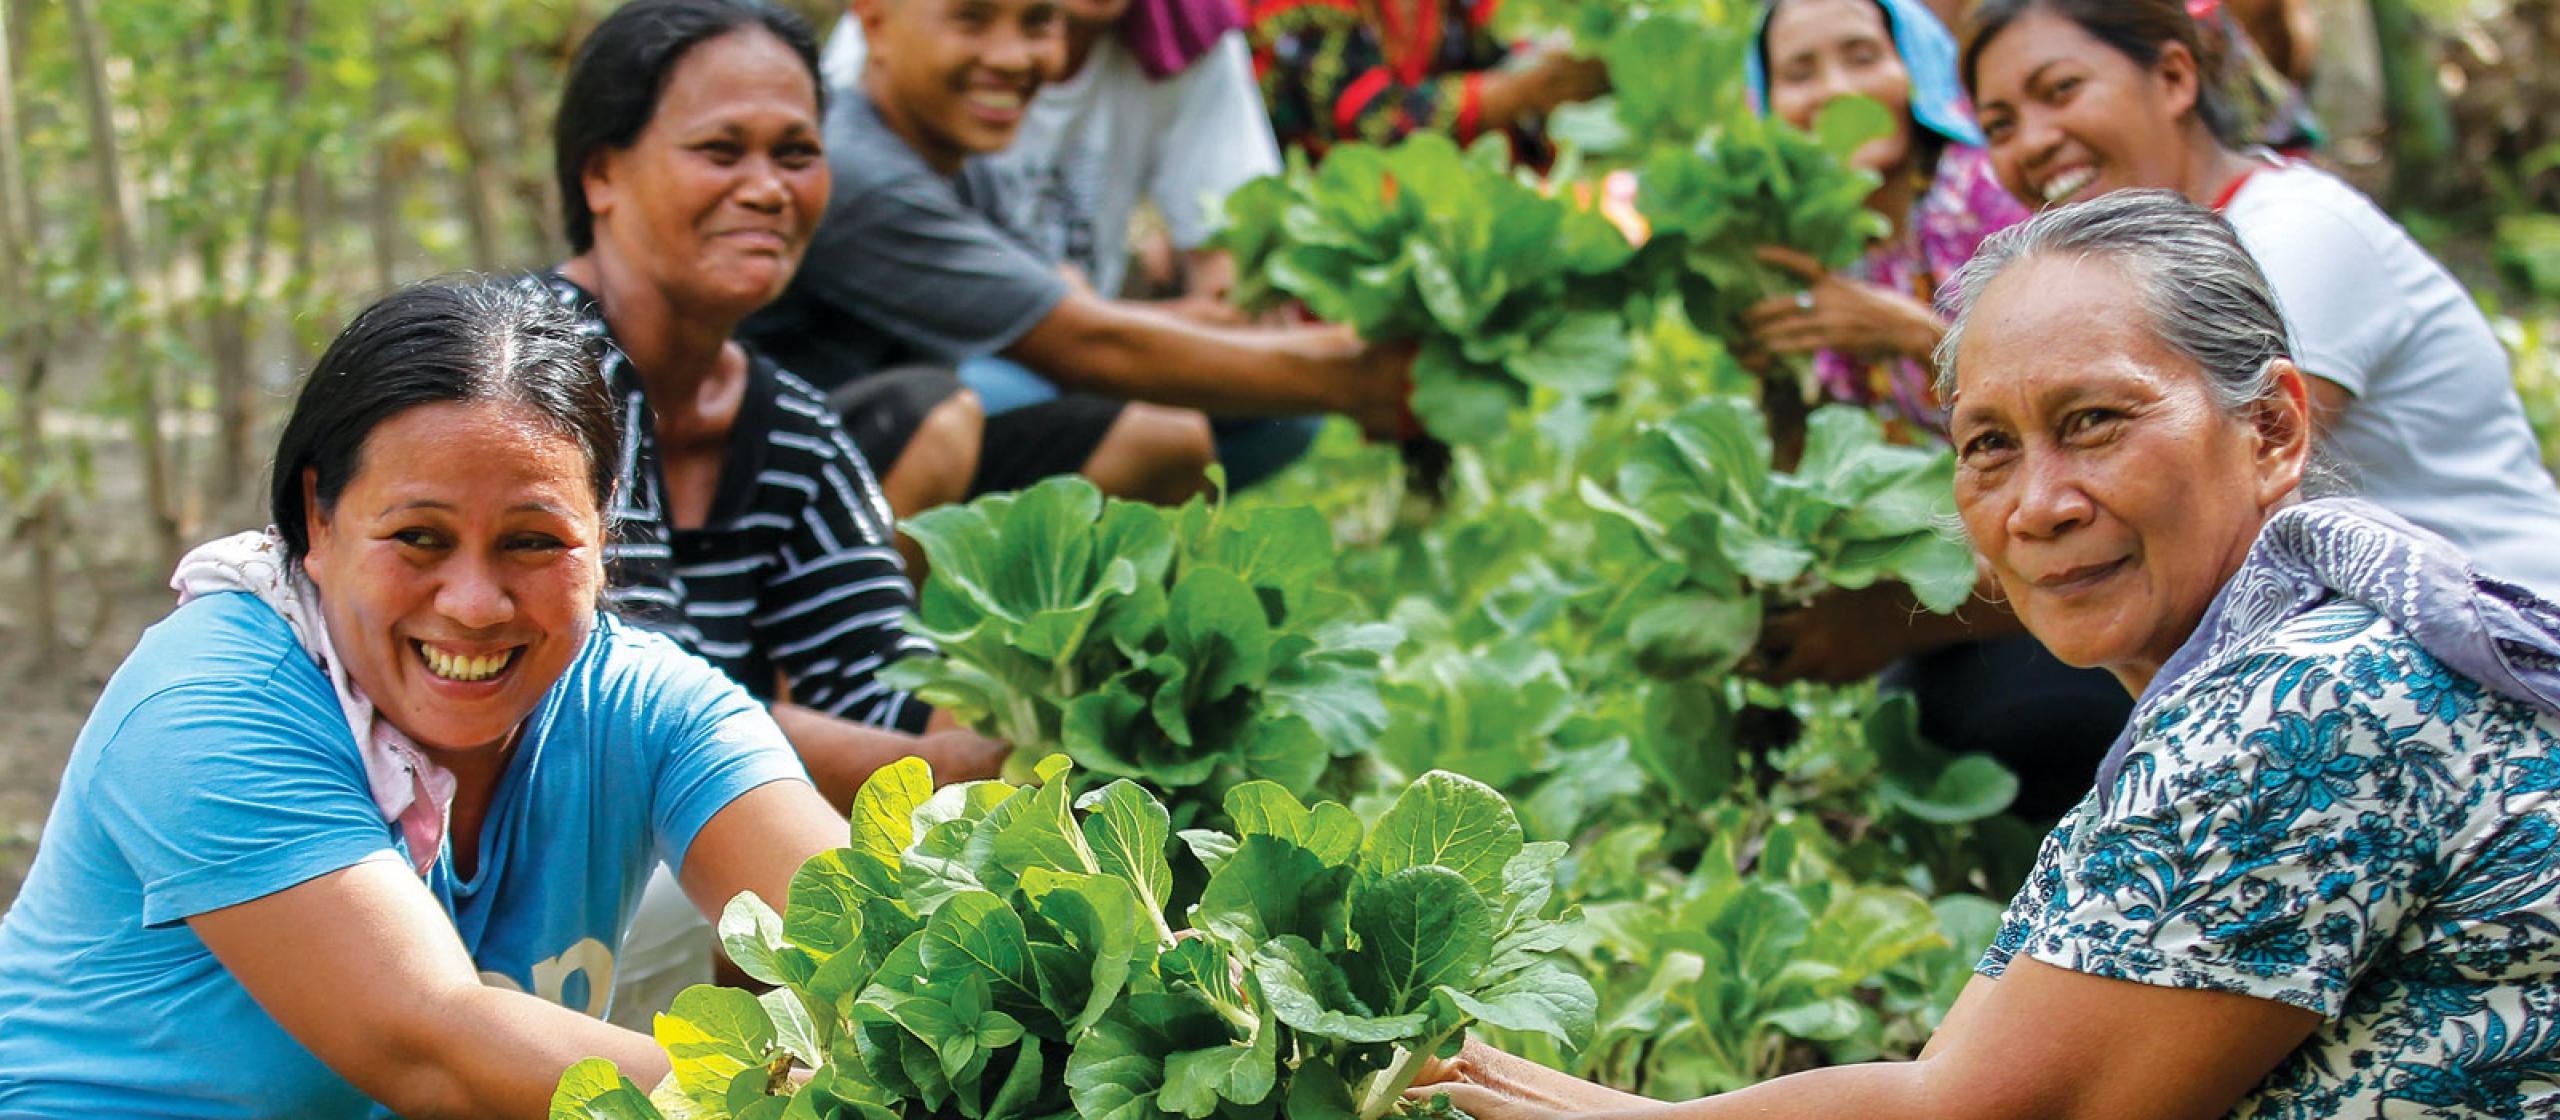
[(614, 8), (579, 43), (561, 92), (561, 115), (550, 125), (553, 171), (561, 176), (561, 217), (568, 251), (596, 248), (596, 215), (586, 210), (586, 159), (596, 148), (630, 148), (658, 115), (666, 79), (686, 51), (740, 28), (763, 28), (781, 38), (801, 66), (817, 105), (827, 110), (827, 79), (817, 69), (817, 36), (809, 23), (768, 0), (632, 0)]

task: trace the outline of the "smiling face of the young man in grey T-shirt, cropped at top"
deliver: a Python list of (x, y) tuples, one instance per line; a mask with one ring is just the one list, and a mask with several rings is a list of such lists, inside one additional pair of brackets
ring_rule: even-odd
[(929, 166), (1004, 151), (1032, 95), (1068, 64), (1057, 0), (858, 0), (863, 89)]

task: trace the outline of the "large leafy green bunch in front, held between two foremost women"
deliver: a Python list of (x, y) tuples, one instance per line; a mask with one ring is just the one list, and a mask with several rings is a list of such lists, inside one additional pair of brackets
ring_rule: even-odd
[[(932, 790), (919, 759), (855, 798), (852, 844), (812, 859), (783, 913), (719, 923), (745, 992), (694, 987), (658, 1018), (694, 1117), (1380, 1120), (1434, 1054), (1485, 1023), (1577, 1046), (1592, 990), (1551, 954), (1562, 844), (1434, 772), (1375, 826), (1272, 782), (1226, 790), (1234, 831), (1185, 831), (1208, 867), (1172, 913), (1170, 813), (1134, 782)], [(663, 1115), (607, 1064), (556, 1117)]]

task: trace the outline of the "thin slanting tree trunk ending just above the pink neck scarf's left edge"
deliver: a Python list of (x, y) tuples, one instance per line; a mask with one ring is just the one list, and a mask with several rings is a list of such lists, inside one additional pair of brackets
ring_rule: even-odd
[[(133, 286), (136, 299), (148, 292), (141, 253), (136, 251), (136, 225), (141, 215), (125, 189), (123, 159), (115, 146), (115, 118), (108, 105), (108, 36), (90, 15), (90, 0), (64, 0), (72, 43), (79, 51), (79, 102), (90, 125), (90, 169), (97, 182), (100, 225), (105, 225), (108, 266)], [(143, 496), (148, 499), (151, 542), (161, 560), (174, 563), (182, 545), (177, 488), (169, 478), (169, 447), (161, 437), (159, 371), (141, 348), (141, 330), (113, 325), (115, 366), (133, 407), (133, 450), (141, 455)]]

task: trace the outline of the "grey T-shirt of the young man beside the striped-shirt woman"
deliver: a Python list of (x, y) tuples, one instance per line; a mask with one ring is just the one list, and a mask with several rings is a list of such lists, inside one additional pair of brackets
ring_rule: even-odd
[(827, 220), (799, 276), (740, 327), (822, 391), (891, 366), (998, 353), (1068, 297), (1057, 266), (996, 217), (986, 161), (937, 174), (870, 97), (827, 110)]

